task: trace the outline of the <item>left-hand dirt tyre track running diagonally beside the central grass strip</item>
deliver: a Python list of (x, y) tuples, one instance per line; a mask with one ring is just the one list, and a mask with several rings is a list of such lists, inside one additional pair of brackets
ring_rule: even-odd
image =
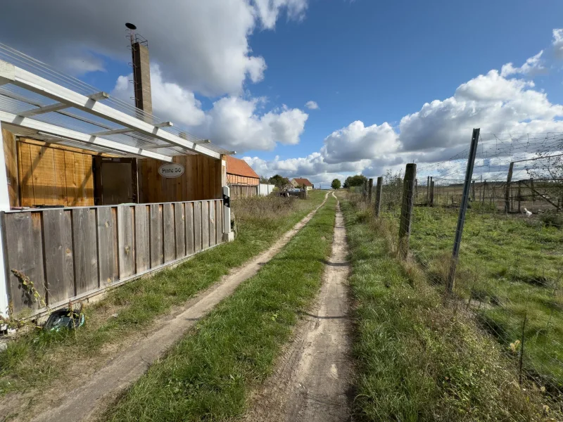
[(277, 255), (281, 248), (303, 229), (317, 210), (327, 202), (328, 196), (329, 193), (324, 196), (321, 205), (301, 219), (284, 236), (281, 236), (271, 248), (238, 269), (234, 269), (231, 274), (224, 276), (214, 286), (186, 302), (186, 305), (172, 319), (160, 321), (160, 324), (146, 338), (139, 340), (118, 357), (107, 362), (91, 378), (85, 379), (80, 388), (70, 392), (61, 392), (61, 395), (56, 397), (56, 400), (53, 399), (50, 404), (43, 403), (49, 408), (43, 407), (42, 412), (34, 416), (32, 421), (91, 421), (98, 417), (115, 397), (120, 395), (120, 392), (137, 381), (148, 366), (174, 345), (188, 328), (208, 314), (221, 300), (231, 295), (243, 281), (258, 273), (260, 267), (270, 261), (274, 255)]

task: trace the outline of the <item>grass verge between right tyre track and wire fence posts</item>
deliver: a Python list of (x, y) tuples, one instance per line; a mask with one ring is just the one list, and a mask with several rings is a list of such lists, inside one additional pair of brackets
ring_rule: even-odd
[[(353, 295), (357, 421), (529, 421), (533, 385), (465, 312), (443, 307), (417, 264), (392, 254), (396, 227), (344, 200)], [(557, 418), (557, 420), (559, 420)]]

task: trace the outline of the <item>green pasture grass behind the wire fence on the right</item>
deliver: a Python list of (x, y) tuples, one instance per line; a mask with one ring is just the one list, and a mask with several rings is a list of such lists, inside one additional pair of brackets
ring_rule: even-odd
[[(455, 210), (416, 208), (411, 250), (440, 288), (457, 222)], [(563, 390), (563, 230), (537, 219), (469, 210), (456, 293), (472, 296), (483, 326), (505, 350), (521, 339), (524, 366), (548, 388)]]

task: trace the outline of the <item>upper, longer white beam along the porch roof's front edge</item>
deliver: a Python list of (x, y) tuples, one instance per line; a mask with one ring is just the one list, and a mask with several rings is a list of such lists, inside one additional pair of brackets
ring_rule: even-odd
[(175, 146), (181, 146), (182, 148), (186, 148), (196, 153), (208, 155), (209, 157), (216, 158), (217, 160), (221, 158), (220, 153), (211, 151), (210, 149), (205, 148), (205, 146), (182, 139), (175, 134), (171, 134), (170, 132), (166, 132), (165, 130), (154, 126), (153, 124), (139, 120), (136, 117), (127, 115), (126, 113), (122, 113), (119, 110), (115, 110), (115, 108), (111, 108), (103, 103), (100, 103), (99, 101), (94, 101), (93, 99), (82, 94), (78, 94), (71, 89), (61, 87), (61, 85), (51, 82), (48, 79), (39, 77), (38, 75), (34, 75), (32, 72), (27, 72), (27, 70), (23, 70), (22, 68), (11, 65), (11, 63), (6, 63), (3, 60), (0, 60), (0, 78), (2, 77), (10, 80), (12, 84), (17, 85), (18, 87), (28, 89), (37, 94), (51, 98), (54, 101), (66, 103), (71, 107), (84, 110), (87, 113), (91, 113), (102, 117), (103, 119), (110, 120), (111, 122), (129, 127), (134, 129), (135, 132), (152, 136), (156, 139), (160, 139), (161, 141), (165, 141)]

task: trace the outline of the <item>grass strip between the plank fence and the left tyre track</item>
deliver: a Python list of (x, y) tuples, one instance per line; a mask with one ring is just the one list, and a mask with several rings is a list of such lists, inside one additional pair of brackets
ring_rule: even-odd
[[(201, 252), (175, 269), (111, 290), (101, 302), (85, 307), (87, 324), (75, 333), (35, 329), (9, 343), (0, 352), (0, 395), (53, 381), (63, 375), (68, 359), (105, 354), (99, 359), (103, 362), (111, 356), (110, 345), (119, 345), (127, 336), (148, 328), (156, 316), (182, 305), (230, 269), (265, 250), (323, 199), (323, 192), (312, 193), (308, 200), (260, 198), (253, 200), (250, 210), (244, 200), (234, 201), (239, 225), (234, 242)], [(275, 214), (262, 212), (272, 208)]]

